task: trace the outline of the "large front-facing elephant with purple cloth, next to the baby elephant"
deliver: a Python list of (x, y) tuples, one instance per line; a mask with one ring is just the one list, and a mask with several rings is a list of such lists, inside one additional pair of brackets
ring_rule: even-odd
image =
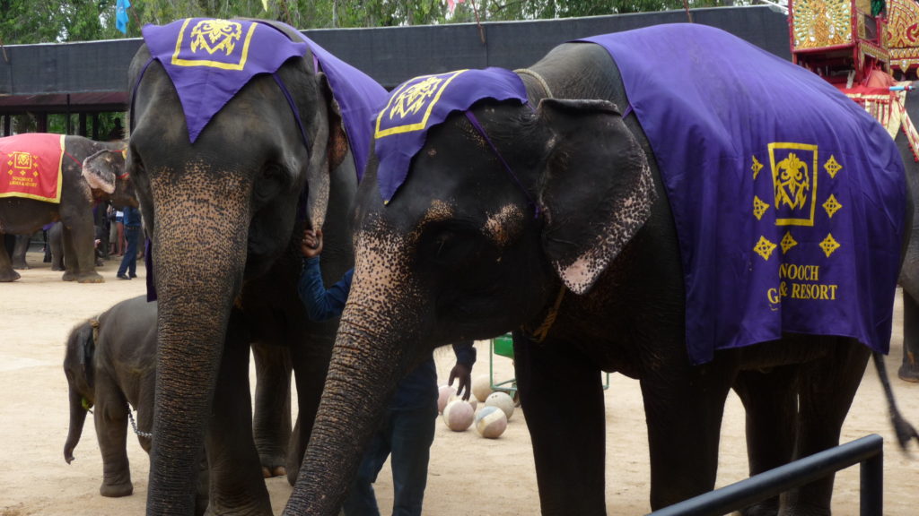
[[(245, 47), (233, 44), (239, 34), (251, 36)], [(215, 46), (223, 64), (235, 64), (215, 64), (217, 54), (205, 51)], [(208, 80), (187, 76), (196, 72)], [(304, 317), (299, 239), (304, 224), (323, 228), (326, 280), (352, 266), (346, 214), (368, 155), (368, 120), (386, 93), (296, 30), (260, 20), (148, 26), (129, 75), (127, 170), (151, 239), (148, 271), (159, 303), (148, 513), (191, 512), (190, 480), (206, 443), (209, 510), (270, 514), (266, 459), (252, 443), (262, 434), (272, 439), (282, 425), (256, 414), (253, 435), (249, 344), (285, 347), (268, 365), (289, 350), (287, 371), (278, 365), (267, 375), (278, 381), (268, 398), (283, 402), (289, 367), (296, 372), (293, 482), (337, 328), (337, 320)], [(212, 89), (200, 90), (204, 83)]]

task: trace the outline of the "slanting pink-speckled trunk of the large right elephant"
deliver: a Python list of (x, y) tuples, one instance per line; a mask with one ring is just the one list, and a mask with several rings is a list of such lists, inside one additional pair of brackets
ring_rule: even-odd
[[(414, 298), (419, 289), (393, 277), (398, 264), (380, 270), (394, 259), (374, 260), (371, 254), (356, 252), (323, 398), (285, 514), (338, 514), (362, 451), (414, 359), (420, 324), (405, 313), (424, 306)], [(406, 312), (397, 314), (397, 308)]]

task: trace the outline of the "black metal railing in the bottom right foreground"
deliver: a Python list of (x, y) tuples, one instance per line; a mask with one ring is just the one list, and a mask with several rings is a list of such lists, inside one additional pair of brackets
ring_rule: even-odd
[(721, 516), (757, 501), (861, 464), (861, 516), (884, 513), (884, 440), (872, 433), (720, 489), (666, 507), (649, 516)]

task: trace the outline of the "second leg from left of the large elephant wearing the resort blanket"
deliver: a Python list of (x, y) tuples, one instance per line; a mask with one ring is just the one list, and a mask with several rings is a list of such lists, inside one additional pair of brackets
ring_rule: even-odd
[(714, 488), (721, 417), (736, 368), (718, 355), (693, 367), (682, 353), (669, 361), (653, 360), (657, 367), (641, 377), (641, 395), (651, 454), (651, 507), (658, 510)]

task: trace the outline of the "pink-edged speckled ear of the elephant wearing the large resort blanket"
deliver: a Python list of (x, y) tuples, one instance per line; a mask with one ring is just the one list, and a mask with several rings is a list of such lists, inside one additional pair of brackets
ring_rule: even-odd
[(539, 190), (543, 247), (565, 286), (584, 294), (650, 216), (651, 169), (610, 102), (544, 99), (537, 115), (554, 132)]

